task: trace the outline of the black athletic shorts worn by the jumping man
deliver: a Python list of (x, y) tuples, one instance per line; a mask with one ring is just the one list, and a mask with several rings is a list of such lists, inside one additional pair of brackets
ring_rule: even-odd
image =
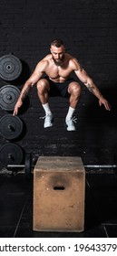
[(70, 78), (68, 80), (65, 80), (64, 82), (54, 82), (53, 80), (50, 80), (48, 77), (44, 77), (45, 80), (49, 81), (50, 85), (50, 91), (49, 96), (63, 96), (63, 97), (69, 97), (68, 93), (68, 86), (72, 81), (75, 81), (73, 78)]

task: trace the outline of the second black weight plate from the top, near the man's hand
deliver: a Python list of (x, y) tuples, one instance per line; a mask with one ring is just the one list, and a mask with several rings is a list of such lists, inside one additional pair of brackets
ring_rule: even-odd
[(13, 111), (20, 90), (14, 85), (5, 85), (0, 89), (0, 106), (5, 111)]

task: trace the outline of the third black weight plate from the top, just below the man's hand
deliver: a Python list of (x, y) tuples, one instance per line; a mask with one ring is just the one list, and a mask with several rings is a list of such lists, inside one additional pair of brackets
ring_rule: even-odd
[(0, 119), (0, 133), (7, 140), (18, 138), (23, 131), (23, 122), (18, 116), (5, 114)]

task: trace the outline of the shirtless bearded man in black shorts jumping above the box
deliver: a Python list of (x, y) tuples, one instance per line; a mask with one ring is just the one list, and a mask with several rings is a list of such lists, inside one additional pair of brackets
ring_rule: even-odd
[[(104, 105), (107, 111), (111, 110), (111, 105), (102, 96), (93, 80), (88, 76), (86, 71), (81, 67), (77, 59), (65, 52), (64, 44), (61, 39), (55, 39), (51, 43), (51, 53), (44, 57), (36, 65), (31, 77), (25, 81), (24, 87), (20, 93), (18, 101), (15, 104), (13, 115), (18, 113), (18, 109), (23, 105), (23, 101), (30, 89), (37, 85), (38, 97), (44, 108), (44, 128), (53, 125), (53, 113), (49, 106), (50, 96), (69, 97), (69, 110), (65, 117), (67, 131), (75, 131), (73, 123), (73, 112), (76, 109), (81, 95), (81, 86), (78, 81), (70, 75), (76, 74), (79, 80), (91, 91), (99, 100), (99, 105)], [(42, 78), (42, 76), (44, 77)]]

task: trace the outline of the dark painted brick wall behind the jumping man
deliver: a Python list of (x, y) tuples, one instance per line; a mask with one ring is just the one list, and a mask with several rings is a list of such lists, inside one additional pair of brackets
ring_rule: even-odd
[[(0, 88), (14, 84), (20, 90), (37, 62), (49, 53), (50, 43), (61, 37), (66, 51), (75, 56), (112, 104), (112, 112), (98, 106), (97, 99), (82, 85), (75, 112), (76, 133), (68, 133), (64, 118), (68, 101), (50, 99), (54, 126), (44, 130), (44, 115), (36, 86), (28, 95), (19, 117), (24, 133), (14, 141), (38, 155), (78, 155), (84, 164), (115, 164), (117, 95), (117, 1), (105, 0), (1, 0), (0, 57), (13, 53), (21, 59), (23, 72), (17, 80), (0, 80)], [(6, 113), (0, 109), (0, 117)], [(12, 141), (13, 142), (13, 141)], [(9, 144), (0, 136), (0, 146)], [(11, 141), (10, 141), (11, 143)]]

